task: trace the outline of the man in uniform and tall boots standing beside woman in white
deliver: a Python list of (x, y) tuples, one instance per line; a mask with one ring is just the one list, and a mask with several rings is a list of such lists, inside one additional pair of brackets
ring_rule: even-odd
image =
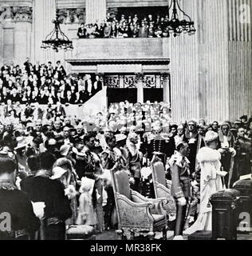
[(187, 142), (179, 142), (171, 156), (171, 196), (176, 202), (175, 240), (183, 240), (183, 227), (186, 222), (187, 204), (191, 198), (190, 166), (187, 159), (190, 149)]

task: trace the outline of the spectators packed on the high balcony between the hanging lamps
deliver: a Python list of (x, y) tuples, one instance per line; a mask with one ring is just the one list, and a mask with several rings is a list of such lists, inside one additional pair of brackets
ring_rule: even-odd
[(77, 36), (79, 38), (167, 38), (168, 16), (161, 17), (159, 14), (154, 18), (152, 14), (143, 19), (138, 15), (119, 19), (107, 15), (104, 22), (95, 24), (81, 23)]

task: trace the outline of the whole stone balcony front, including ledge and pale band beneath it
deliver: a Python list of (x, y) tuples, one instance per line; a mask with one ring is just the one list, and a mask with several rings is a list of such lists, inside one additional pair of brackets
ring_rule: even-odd
[(72, 71), (167, 72), (170, 62), (169, 38), (74, 38), (73, 47), (65, 55)]

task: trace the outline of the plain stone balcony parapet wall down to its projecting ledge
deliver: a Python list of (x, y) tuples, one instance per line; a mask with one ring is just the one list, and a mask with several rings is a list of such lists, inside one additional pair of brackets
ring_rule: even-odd
[(169, 38), (73, 39), (73, 51), (66, 54), (72, 65), (80, 62), (167, 62)]

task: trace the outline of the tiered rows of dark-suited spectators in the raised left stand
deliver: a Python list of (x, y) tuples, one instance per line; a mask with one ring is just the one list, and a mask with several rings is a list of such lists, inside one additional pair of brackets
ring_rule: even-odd
[(98, 75), (67, 75), (61, 61), (33, 65), (4, 62), (0, 69), (0, 102), (39, 104), (83, 104), (102, 89)]

